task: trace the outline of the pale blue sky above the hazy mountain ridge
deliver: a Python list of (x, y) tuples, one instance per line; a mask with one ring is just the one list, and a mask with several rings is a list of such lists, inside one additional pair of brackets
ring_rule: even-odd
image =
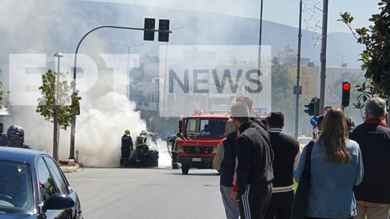
[[(80, 0), (94, 2), (109, 2), (121, 4), (135, 4), (143, 6), (154, 6), (161, 8), (172, 8), (188, 11), (205, 11), (232, 15), (238, 17), (259, 18), (259, 0)], [(304, 0), (318, 1), (318, 8), (322, 9), (322, 0)], [(349, 32), (345, 24), (337, 21), (340, 18), (339, 13), (348, 11), (355, 18), (353, 21), (354, 27), (362, 27), (370, 25), (368, 19), (372, 14), (378, 12), (378, 0), (330, 0), (329, 1), (329, 17), (328, 31), (329, 32)], [(298, 27), (299, 23), (299, 1), (298, 0), (264, 0), (264, 15), (263, 19), (276, 23), (286, 24), (293, 27)], [(319, 10), (307, 10), (303, 13), (302, 26), (306, 28), (305, 19), (309, 20), (314, 16), (315, 20), (322, 20), (322, 13)], [(320, 22), (321, 24), (321, 22)], [(317, 31), (320, 31), (317, 29)]]

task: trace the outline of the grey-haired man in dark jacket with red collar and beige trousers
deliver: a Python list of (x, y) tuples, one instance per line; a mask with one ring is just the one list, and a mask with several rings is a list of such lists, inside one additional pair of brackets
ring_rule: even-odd
[(382, 121), (386, 102), (374, 97), (365, 103), (365, 123), (349, 131), (349, 138), (359, 143), (364, 165), (364, 178), (353, 193), (356, 219), (387, 219), (390, 211), (390, 129)]

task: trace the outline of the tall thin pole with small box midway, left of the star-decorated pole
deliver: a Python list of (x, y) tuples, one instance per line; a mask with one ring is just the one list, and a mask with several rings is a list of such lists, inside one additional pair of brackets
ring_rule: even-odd
[(301, 40), (302, 40), (302, 0), (299, 1), (299, 33), (298, 33), (298, 61), (297, 61), (297, 93), (295, 102), (295, 138), (298, 138), (299, 123), (299, 81), (301, 79)]

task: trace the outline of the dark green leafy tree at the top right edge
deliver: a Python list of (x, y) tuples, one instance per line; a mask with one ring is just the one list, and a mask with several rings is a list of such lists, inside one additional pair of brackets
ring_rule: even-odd
[(381, 0), (379, 14), (374, 14), (369, 19), (373, 25), (353, 30), (354, 17), (348, 13), (340, 13), (341, 19), (352, 31), (358, 43), (366, 46), (360, 54), (363, 61), (362, 69), (366, 71), (365, 81), (355, 88), (361, 94), (354, 104), (362, 109), (364, 103), (370, 97), (379, 96), (387, 99), (390, 96), (390, 0)]

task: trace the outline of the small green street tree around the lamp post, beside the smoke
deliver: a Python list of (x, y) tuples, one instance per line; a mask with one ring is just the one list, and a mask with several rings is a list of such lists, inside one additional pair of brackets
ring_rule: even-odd
[[(67, 73), (68, 74), (68, 73)], [(58, 98), (58, 126), (67, 130), (72, 125), (73, 119), (79, 114), (80, 99), (78, 91), (74, 95), (71, 91), (74, 82), (68, 83), (64, 80), (65, 74), (59, 74), (59, 98)], [(38, 98), (36, 112), (45, 118), (46, 121), (54, 122), (55, 96), (56, 96), (56, 77), (57, 73), (48, 69), (42, 75), (42, 86), (39, 87), (42, 97)], [(73, 103), (73, 104), (71, 104)]]

